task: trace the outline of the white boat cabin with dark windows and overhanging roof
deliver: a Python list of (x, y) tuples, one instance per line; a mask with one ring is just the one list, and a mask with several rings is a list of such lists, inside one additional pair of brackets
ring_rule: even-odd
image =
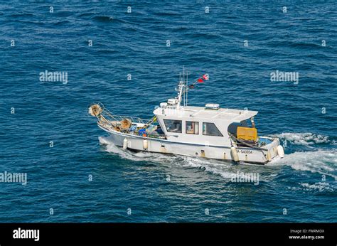
[[(154, 114), (166, 139), (171, 141), (230, 146), (230, 135), (246, 141), (257, 140), (253, 118), (257, 111), (224, 109), (215, 104), (178, 107), (169, 100), (161, 103)], [(247, 119), (252, 119), (252, 127)]]

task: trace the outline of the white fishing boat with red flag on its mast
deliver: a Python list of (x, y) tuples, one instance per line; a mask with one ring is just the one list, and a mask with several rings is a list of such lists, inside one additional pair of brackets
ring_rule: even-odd
[(254, 121), (257, 111), (221, 108), (215, 103), (188, 106), (188, 90), (208, 79), (205, 74), (188, 85), (188, 73), (183, 71), (177, 96), (161, 102), (151, 119), (115, 115), (102, 103), (92, 104), (89, 114), (110, 134), (109, 140), (123, 149), (249, 164), (283, 158), (278, 138), (258, 136)]

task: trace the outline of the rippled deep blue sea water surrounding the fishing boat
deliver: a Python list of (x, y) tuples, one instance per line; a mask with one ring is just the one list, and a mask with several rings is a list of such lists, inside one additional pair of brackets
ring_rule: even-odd
[[(0, 173), (28, 182), (0, 183), (0, 222), (337, 222), (336, 16), (334, 1), (2, 2)], [(183, 66), (210, 75), (190, 105), (259, 111), (285, 158), (136, 154), (87, 114), (99, 101), (149, 118)], [(46, 70), (67, 82), (41, 82)], [(238, 171), (259, 184), (231, 182)]]

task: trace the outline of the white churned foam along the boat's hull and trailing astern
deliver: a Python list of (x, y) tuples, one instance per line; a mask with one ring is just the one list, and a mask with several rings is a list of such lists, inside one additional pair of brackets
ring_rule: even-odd
[[(106, 145), (106, 151), (109, 153), (118, 154), (122, 159), (129, 159), (132, 161), (149, 161), (166, 166), (185, 166), (203, 169), (205, 172), (214, 173), (223, 178), (229, 179), (236, 174), (237, 168), (240, 169), (242, 165), (232, 165), (225, 161), (200, 159), (191, 156), (175, 156), (156, 154), (149, 152), (127, 151), (119, 146), (115, 146), (109, 137), (100, 137), (100, 144)], [(307, 151), (295, 152), (287, 154), (283, 159), (273, 159), (267, 166), (291, 166), (292, 169), (298, 171), (310, 171), (311, 173), (320, 173), (326, 176), (331, 176), (337, 180), (336, 164), (337, 155), (336, 150), (333, 151)], [(245, 165), (247, 166), (247, 165)], [(258, 165), (260, 167), (260, 165)], [(249, 170), (253, 171), (253, 167)]]

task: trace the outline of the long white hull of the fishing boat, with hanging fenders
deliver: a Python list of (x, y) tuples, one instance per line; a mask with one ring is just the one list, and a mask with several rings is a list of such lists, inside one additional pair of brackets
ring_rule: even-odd
[[(231, 146), (211, 146), (204, 144), (181, 143), (166, 139), (154, 139), (141, 137), (133, 134), (125, 134), (100, 128), (111, 134), (109, 139), (113, 144), (133, 151), (150, 151), (162, 154), (178, 154), (183, 156), (200, 156), (209, 159), (222, 159), (232, 161), (234, 158), (230, 152)], [(269, 138), (270, 139), (270, 138)], [(265, 150), (252, 149), (250, 147), (236, 147), (238, 161), (245, 161), (254, 164), (266, 164), (277, 156), (277, 146), (279, 139), (271, 139), (272, 143), (263, 146)], [(269, 153), (269, 154), (268, 154)]]

